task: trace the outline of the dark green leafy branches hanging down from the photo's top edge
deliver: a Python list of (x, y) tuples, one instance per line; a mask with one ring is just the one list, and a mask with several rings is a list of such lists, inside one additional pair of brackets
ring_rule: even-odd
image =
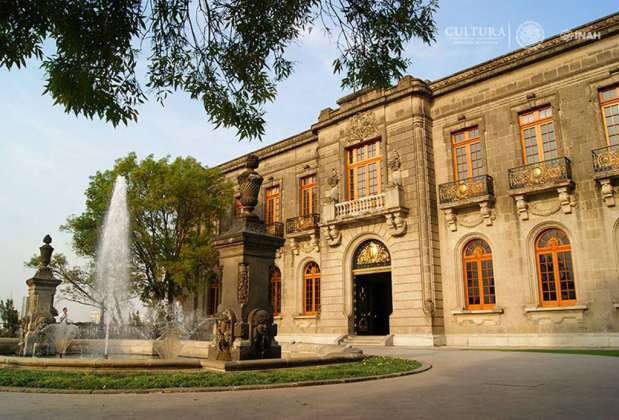
[[(437, 0), (0, 0), (0, 66), (42, 61), (45, 92), (67, 112), (137, 120), (146, 87), (202, 102), (216, 126), (264, 133), (264, 109), (294, 63), (288, 47), (310, 30), (337, 46), (347, 88), (400, 78), (413, 38), (435, 39)], [(52, 42), (48, 42), (52, 41)], [(44, 44), (46, 47), (44, 47)]]

